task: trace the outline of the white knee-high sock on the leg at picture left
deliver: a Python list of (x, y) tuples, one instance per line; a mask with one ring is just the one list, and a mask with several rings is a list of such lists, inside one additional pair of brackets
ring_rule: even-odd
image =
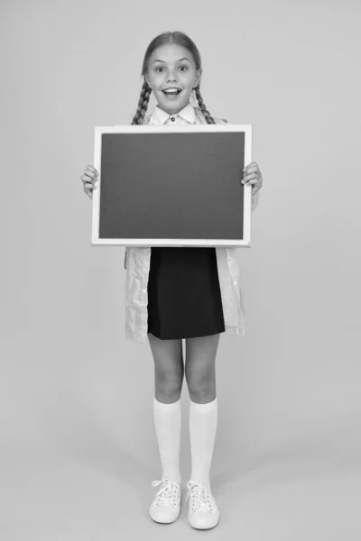
[(162, 463), (162, 479), (180, 483), (180, 399), (164, 404), (154, 397), (154, 425)]

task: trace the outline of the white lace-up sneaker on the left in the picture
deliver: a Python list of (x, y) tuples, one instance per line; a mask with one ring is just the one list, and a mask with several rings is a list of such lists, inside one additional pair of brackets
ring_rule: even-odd
[(153, 487), (162, 483), (161, 488), (153, 496), (149, 514), (155, 522), (170, 523), (180, 516), (180, 483), (171, 479), (153, 481)]

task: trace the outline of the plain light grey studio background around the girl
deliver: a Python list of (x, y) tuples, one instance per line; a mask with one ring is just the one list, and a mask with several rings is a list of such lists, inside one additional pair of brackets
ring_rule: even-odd
[[(359, 540), (360, 5), (8, 0), (0, 19), (2, 541), (199, 535), (188, 502), (149, 518), (153, 357), (125, 340), (125, 249), (91, 246), (80, 180), (168, 30), (198, 45), (210, 113), (253, 124), (264, 177), (238, 252), (246, 335), (218, 347), (208, 535)], [(188, 416), (184, 383), (183, 487)]]

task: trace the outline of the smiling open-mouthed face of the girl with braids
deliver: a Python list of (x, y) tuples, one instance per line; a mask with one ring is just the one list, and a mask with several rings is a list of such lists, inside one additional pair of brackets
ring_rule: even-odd
[[(152, 88), (158, 106), (166, 113), (175, 115), (190, 103), (190, 95), (199, 84), (200, 73), (196, 70), (189, 50), (169, 44), (153, 51), (145, 80)], [(180, 88), (180, 94), (166, 96), (163, 90), (171, 87)]]

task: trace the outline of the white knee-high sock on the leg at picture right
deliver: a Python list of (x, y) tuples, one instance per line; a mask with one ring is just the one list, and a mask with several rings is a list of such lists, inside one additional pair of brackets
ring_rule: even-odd
[(190, 400), (190, 480), (210, 488), (209, 471), (218, 422), (218, 399), (208, 404)]

